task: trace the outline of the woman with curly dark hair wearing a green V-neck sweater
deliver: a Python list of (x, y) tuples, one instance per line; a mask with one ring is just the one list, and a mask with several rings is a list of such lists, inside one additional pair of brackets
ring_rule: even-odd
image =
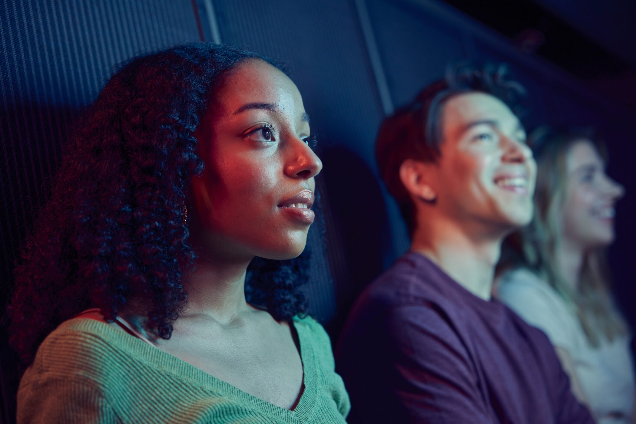
[(117, 72), (16, 271), (18, 422), (343, 423), (289, 260), (314, 221), (309, 143), (298, 89), (255, 53), (189, 44)]

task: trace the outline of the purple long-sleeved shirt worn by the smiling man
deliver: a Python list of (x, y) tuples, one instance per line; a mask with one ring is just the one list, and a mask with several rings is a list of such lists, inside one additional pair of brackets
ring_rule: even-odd
[(543, 332), (414, 252), (357, 299), (336, 371), (350, 423), (593, 423)]

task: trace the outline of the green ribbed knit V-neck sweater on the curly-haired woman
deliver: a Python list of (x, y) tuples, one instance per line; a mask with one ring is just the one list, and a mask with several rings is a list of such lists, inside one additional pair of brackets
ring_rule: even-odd
[(62, 323), (18, 389), (25, 423), (344, 423), (349, 396), (331, 344), (312, 318), (294, 318), (305, 390), (293, 411), (265, 402), (97, 320)]

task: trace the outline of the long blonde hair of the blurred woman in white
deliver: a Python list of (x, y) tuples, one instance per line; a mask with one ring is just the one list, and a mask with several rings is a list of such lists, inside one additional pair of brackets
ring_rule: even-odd
[(604, 144), (591, 130), (556, 132), (542, 127), (529, 137), (537, 161), (537, 185), (534, 193), (534, 217), (529, 226), (509, 236), (502, 246), (499, 270), (528, 268), (555, 289), (567, 306), (576, 313), (592, 346), (600, 345), (601, 336), (612, 341), (628, 332), (625, 321), (614, 306), (609, 291), (611, 275), (605, 249), (586, 252), (577, 289), (562, 277), (556, 264), (560, 242), (558, 215), (565, 196), (567, 170), (565, 160), (570, 148), (581, 140), (590, 141), (604, 160)]

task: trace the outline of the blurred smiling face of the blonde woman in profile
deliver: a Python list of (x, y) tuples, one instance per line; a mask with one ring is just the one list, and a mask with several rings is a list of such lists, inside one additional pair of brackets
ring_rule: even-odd
[(605, 162), (589, 140), (580, 140), (565, 156), (563, 237), (583, 249), (614, 241), (614, 203), (623, 186), (605, 174)]

